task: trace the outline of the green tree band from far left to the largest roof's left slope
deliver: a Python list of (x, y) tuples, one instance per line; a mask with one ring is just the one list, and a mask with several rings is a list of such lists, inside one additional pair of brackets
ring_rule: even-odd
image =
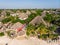
[(20, 22), (24, 24), (24, 23), (29, 23), (32, 19), (34, 19), (37, 16), (37, 14), (31, 13), (26, 20), (21, 20), (18, 18), (18, 16), (10, 16), (9, 13), (7, 13), (7, 16), (8, 16), (7, 18), (2, 20), (3, 23), (7, 23), (11, 21), (12, 23)]

